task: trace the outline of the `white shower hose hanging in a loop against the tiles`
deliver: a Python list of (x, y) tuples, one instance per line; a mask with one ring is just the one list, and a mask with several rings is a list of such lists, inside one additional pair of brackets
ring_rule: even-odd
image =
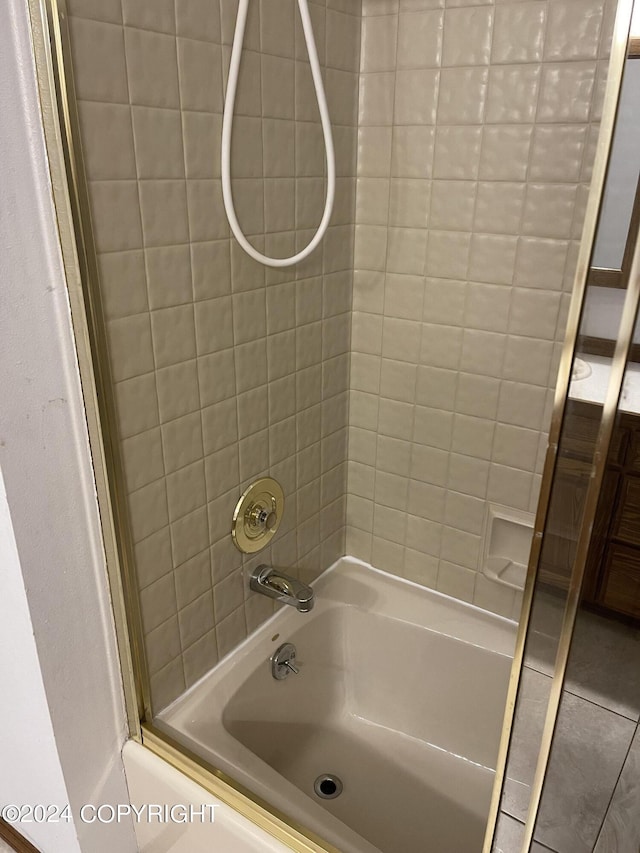
[[(265, 6), (265, 9), (266, 8), (267, 7)], [(325, 156), (327, 163), (327, 197), (324, 205), (324, 213), (315, 236), (306, 248), (298, 252), (297, 255), (293, 255), (290, 258), (269, 258), (254, 249), (242, 233), (233, 204), (233, 192), (231, 191), (231, 135), (233, 133), (233, 111), (236, 103), (238, 74), (240, 71), (242, 43), (244, 41), (244, 31), (247, 23), (249, 0), (240, 0), (238, 5), (238, 17), (236, 18), (236, 30), (233, 36), (231, 64), (229, 66), (229, 82), (227, 83), (227, 94), (225, 97), (224, 113), (222, 116), (222, 198), (224, 200), (229, 225), (231, 226), (231, 230), (233, 231), (236, 240), (240, 243), (245, 252), (254, 260), (259, 261), (261, 264), (265, 264), (268, 267), (290, 267), (293, 266), (293, 264), (297, 264), (313, 252), (318, 243), (324, 237), (324, 233), (329, 225), (331, 212), (333, 210), (333, 200), (336, 192), (336, 163), (335, 153), (333, 150), (333, 138), (331, 136), (331, 121), (329, 119), (327, 99), (322, 85), (322, 74), (320, 72), (320, 63), (318, 62), (318, 51), (316, 50), (316, 43), (313, 38), (313, 28), (311, 26), (311, 17), (309, 15), (307, 0), (298, 0), (298, 8), (300, 9), (302, 28), (304, 30), (304, 38), (307, 43), (309, 64), (311, 65), (311, 74), (313, 76), (313, 84), (315, 86), (316, 98), (318, 100), (318, 109), (320, 110), (320, 120), (322, 122), (322, 132), (324, 134)]]

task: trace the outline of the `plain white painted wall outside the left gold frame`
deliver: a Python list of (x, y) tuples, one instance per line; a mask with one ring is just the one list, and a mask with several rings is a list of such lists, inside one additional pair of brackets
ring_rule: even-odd
[(28, 5), (8, 0), (0, 27), (0, 803), (69, 804), (68, 822), (18, 824), (42, 853), (134, 853), (131, 820), (78, 818), (87, 801), (128, 802), (128, 732), (44, 90)]

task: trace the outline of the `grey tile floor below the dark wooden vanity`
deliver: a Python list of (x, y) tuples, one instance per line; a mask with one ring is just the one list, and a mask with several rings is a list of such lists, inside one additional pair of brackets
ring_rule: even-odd
[[(563, 602), (539, 593), (495, 850), (519, 853)], [(640, 630), (581, 611), (533, 853), (639, 853)]]

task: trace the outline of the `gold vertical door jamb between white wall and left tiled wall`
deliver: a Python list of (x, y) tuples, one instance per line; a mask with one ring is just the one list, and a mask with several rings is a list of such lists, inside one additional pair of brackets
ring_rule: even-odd
[[(124, 469), (118, 440), (113, 382), (71, 56), (66, 0), (29, 0), (43, 114), (49, 124), (47, 148), (58, 168), (54, 199), (58, 222), (69, 237), (64, 251), (72, 314), (79, 352), (85, 405), (91, 406), (91, 449), (98, 480), (98, 498), (108, 549), (112, 603), (118, 646), (125, 674), (125, 700), (131, 735), (140, 739), (140, 720), (151, 715), (151, 693), (143, 641), (142, 616), (126, 504)], [(62, 234), (62, 229), (61, 229)], [(69, 243), (73, 240), (73, 245)], [(81, 346), (80, 346), (81, 344)], [(133, 680), (135, 690), (131, 690)], [(132, 695), (133, 694), (133, 695)]]

